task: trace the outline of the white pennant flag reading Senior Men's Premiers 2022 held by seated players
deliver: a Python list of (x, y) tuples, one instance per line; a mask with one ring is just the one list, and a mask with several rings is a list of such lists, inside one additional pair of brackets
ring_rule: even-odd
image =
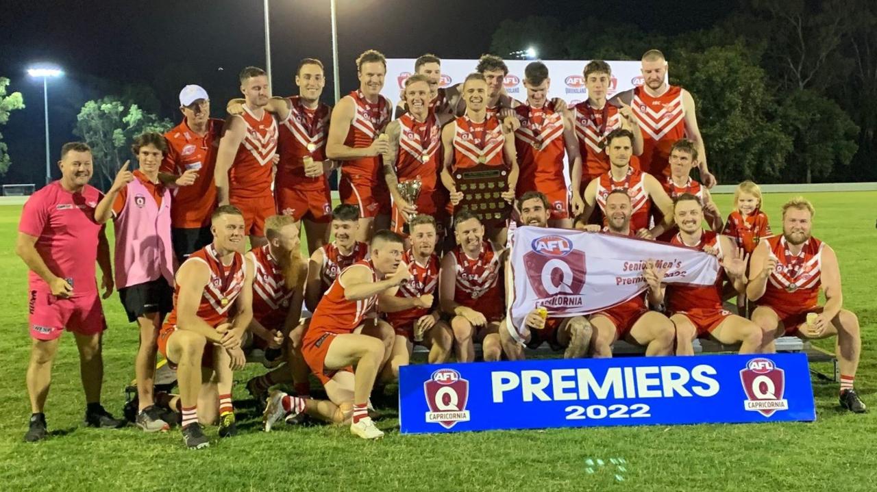
[[(716, 257), (701, 251), (621, 235), (523, 226), (511, 240), (513, 279), (506, 278), (510, 333), (535, 307), (567, 318), (596, 313), (645, 292), (645, 261), (667, 269), (669, 284), (713, 285)], [(511, 284), (511, 285), (510, 285)]]

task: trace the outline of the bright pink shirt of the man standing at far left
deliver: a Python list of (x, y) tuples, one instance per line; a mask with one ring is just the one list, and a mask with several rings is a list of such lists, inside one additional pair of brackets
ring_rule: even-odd
[[(53, 181), (27, 199), (18, 222), (19, 232), (39, 238), (35, 247), (49, 271), (73, 280), (75, 293), (97, 292), (95, 264), (101, 225), (95, 221), (95, 208), (102, 197), (94, 186), (70, 193), (60, 181)], [(27, 276), (30, 290), (49, 290), (33, 271)]]

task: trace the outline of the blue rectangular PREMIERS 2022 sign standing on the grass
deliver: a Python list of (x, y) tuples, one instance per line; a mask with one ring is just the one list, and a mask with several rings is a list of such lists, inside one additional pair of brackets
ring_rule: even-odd
[(816, 420), (807, 355), (403, 366), (403, 433)]

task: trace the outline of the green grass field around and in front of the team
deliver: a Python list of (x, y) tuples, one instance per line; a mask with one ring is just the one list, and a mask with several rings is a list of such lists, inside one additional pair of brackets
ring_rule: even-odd
[[(766, 197), (780, 229), (779, 206)], [(875, 490), (877, 489), (877, 193), (813, 193), (815, 235), (837, 251), (845, 307), (859, 314), (862, 362), (856, 386), (875, 410), (838, 408), (836, 383), (814, 383), (814, 423), (688, 425), (480, 432), (403, 436), (395, 410), (382, 409), (385, 439), (366, 442), (346, 427), (281, 426), (260, 432), (244, 383), (260, 367), (235, 375), (241, 434), (205, 452), (183, 448), (180, 432), (145, 435), (81, 425), (84, 400), (69, 334), (54, 365), (46, 418), (53, 436), (22, 441), (30, 408), (25, 390), (25, 265), (13, 245), (21, 207), (0, 207), (0, 484), (5, 490)], [(718, 195), (724, 214), (731, 196)], [(131, 381), (137, 334), (118, 296), (104, 303), (103, 404), (117, 416)], [(8, 316), (8, 317), (7, 317)], [(831, 342), (824, 343), (831, 348)], [(822, 366), (817, 369), (827, 369)], [(388, 389), (392, 391), (392, 389)], [(391, 398), (389, 398), (391, 400)], [(538, 418), (534, 415), (533, 418)], [(241, 422), (242, 420), (242, 422)], [(216, 429), (206, 431), (216, 439)], [(610, 459), (624, 459), (620, 472)], [(588, 474), (586, 460), (603, 460)], [(623, 477), (618, 481), (616, 474)]]

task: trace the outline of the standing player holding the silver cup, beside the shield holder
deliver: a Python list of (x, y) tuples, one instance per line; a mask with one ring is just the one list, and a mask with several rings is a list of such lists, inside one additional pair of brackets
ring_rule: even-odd
[(430, 110), (430, 83), (414, 74), (405, 81), (403, 93), (408, 112), (387, 125), (389, 150), (383, 154), (384, 177), (393, 199), (390, 228), (410, 235), (408, 221), (416, 214), (438, 215), (443, 234), (447, 190), (439, 181), (439, 137), (451, 116)]

